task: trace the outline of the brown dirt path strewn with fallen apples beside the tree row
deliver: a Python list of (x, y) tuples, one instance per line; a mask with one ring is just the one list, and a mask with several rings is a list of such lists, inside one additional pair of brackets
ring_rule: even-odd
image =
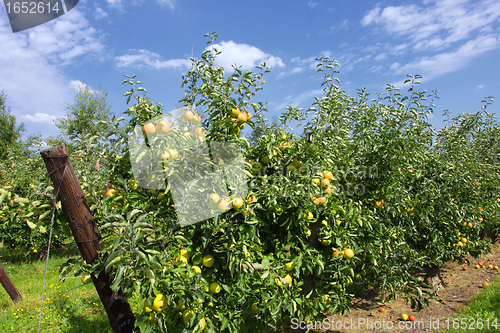
[[(482, 290), (483, 281), (493, 281), (500, 277), (499, 270), (487, 269), (489, 264), (500, 266), (500, 241), (497, 241), (492, 247), (491, 253), (485, 255), (482, 258), (474, 259), (473, 257), (467, 257), (471, 265), (467, 266), (467, 270), (463, 270), (462, 265), (458, 263), (448, 263), (441, 268), (441, 276), (445, 285), (438, 285), (435, 290), (438, 291), (438, 296), (444, 304), (441, 304), (437, 300), (430, 300), (429, 306), (422, 309), (420, 312), (413, 311), (410, 305), (405, 304), (402, 298), (390, 301), (387, 303), (382, 303), (380, 295), (374, 291), (368, 291), (363, 296), (356, 298), (352, 305), (352, 312), (350, 314), (344, 314), (343, 316), (330, 316), (330, 323), (334, 325), (341, 320), (342, 322), (348, 321), (349, 324), (361, 323), (363, 320), (372, 322), (376, 326), (373, 329), (367, 329), (366, 324), (363, 326), (357, 325), (356, 329), (336, 329), (331, 327), (331, 329), (310, 330), (313, 332), (328, 332), (328, 333), (360, 333), (360, 332), (438, 332), (440, 329), (446, 328), (446, 320), (453, 319), (454, 314), (461, 305), (466, 305), (471, 297), (477, 292)], [(474, 266), (479, 261), (481, 261), (485, 268), (475, 269)], [(380, 309), (384, 308), (385, 312), (381, 312)], [(407, 313), (409, 316), (413, 315), (416, 317), (415, 322), (408, 321), (407, 323), (413, 323), (418, 325), (420, 321), (420, 328), (399, 328), (400, 316), (402, 313)], [(439, 323), (437, 320), (439, 319)], [(385, 329), (384, 329), (385, 322)], [(392, 325), (391, 325), (392, 323)], [(435, 326), (435, 329), (429, 328), (431, 323)], [(440, 327), (436, 327), (440, 325)], [(451, 324), (450, 324), (451, 325)], [(392, 329), (391, 329), (392, 327)], [(340, 328), (340, 327), (339, 327)]]

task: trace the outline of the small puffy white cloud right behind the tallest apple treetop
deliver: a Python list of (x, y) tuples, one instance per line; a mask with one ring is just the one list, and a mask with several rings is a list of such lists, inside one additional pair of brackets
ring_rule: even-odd
[[(263, 62), (270, 67), (285, 67), (285, 64), (279, 57), (265, 53), (262, 50), (248, 44), (237, 44), (233, 41), (221, 42), (215, 44), (218, 51), (222, 51), (217, 56), (216, 66), (223, 67), (226, 72), (232, 72), (231, 65), (242, 66), (243, 69), (253, 69)], [(207, 49), (210, 49), (208, 47)]]

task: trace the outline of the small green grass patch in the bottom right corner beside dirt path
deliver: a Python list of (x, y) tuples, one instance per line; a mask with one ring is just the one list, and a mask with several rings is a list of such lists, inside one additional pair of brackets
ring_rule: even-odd
[[(453, 319), (450, 318), (450, 329), (447, 332), (476, 332), (490, 333), (500, 331), (500, 279), (491, 283), (491, 287), (485, 288), (482, 292), (476, 294), (466, 307), (462, 307), (455, 316), (456, 328), (453, 328)], [(466, 329), (459, 328), (461, 323), (468, 326)], [(482, 322), (483, 327), (479, 328)], [(488, 327), (489, 322), (489, 327)], [(496, 327), (492, 326), (496, 323)]]

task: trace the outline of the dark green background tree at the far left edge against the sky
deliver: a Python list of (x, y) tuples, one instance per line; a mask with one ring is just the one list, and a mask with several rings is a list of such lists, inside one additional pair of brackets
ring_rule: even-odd
[(4, 158), (7, 151), (19, 147), (21, 133), (25, 131), (24, 124), (16, 126), (16, 117), (10, 114), (10, 107), (6, 105), (7, 95), (0, 93), (0, 158)]

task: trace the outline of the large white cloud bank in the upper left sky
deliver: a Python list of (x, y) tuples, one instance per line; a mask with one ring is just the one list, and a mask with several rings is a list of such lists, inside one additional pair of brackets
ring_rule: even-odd
[[(52, 119), (61, 117), (64, 102), (74, 97), (65, 67), (103, 56), (102, 37), (81, 9), (26, 32), (0, 34), (0, 90), (7, 94), (12, 114), (26, 122), (28, 134), (58, 132)], [(5, 14), (0, 14), (0, 30), (10, 30)]]

